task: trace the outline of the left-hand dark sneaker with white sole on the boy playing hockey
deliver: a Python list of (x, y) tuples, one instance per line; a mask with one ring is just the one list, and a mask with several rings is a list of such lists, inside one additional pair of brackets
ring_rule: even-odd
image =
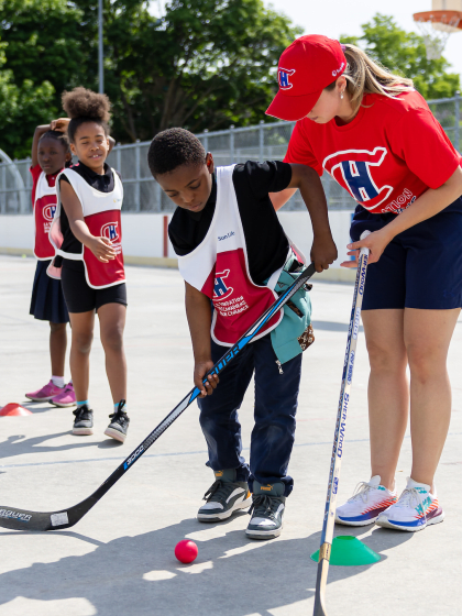
[(248, 482), (235, 481), (235, 469), (216, 471), (215, 476), (216, 482), (204, 496), (206, 504), (197, 513), (199, 521), (221, 521), (251, 505)]

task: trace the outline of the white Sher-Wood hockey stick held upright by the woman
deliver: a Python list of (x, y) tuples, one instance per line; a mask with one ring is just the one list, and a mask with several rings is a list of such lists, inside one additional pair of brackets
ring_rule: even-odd
[[(363, 240), (369, 235), (364, 231)], [(346, 426), (348, 405), (350, 402), (351, 382), (353, 378), (354, 356), (356, 354), (358, 333), (360, 331), (361, 306), (369, 260), (369, 249), (361, 249), (354, 285), (353, 306), (351, 308), (350, 327), (348, 330), (346, 351), (343, 363), (342, 385), (340, 387), (339, 408), (337, 411), (336, 432), (333, 436), (332, 458), (329, 471), (329, 485), (326, 499), (324, 519), (319, 550), (318, 574), (316, 579), (314, 616), (327, 616), (326, 585), (329, 571), (330, 549), (332, 546), (333, 524), (336, 520), (337, 491), (339, 488), (340, 466), (342, 462), (343, 441)]]

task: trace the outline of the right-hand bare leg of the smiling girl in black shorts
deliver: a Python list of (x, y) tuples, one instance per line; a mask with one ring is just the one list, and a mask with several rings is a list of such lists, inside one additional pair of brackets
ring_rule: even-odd
[(101, 343), (106, 354), (106, 373), (114, 404), (127, 399), (127, 360), (123, 349), (127, 306), (105, 304), (98, 308)]

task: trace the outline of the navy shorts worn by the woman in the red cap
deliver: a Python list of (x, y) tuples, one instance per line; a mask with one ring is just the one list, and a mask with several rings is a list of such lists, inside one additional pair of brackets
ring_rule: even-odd
[[(377, 231), (395, 213), (370, 213), (356, 207), (350, 234)], [(399, 216), (399, 215), (398, 215)], [(367, 266), (363, 310), (462, 307), (462, 198), (428, 220), (403, 231)]]

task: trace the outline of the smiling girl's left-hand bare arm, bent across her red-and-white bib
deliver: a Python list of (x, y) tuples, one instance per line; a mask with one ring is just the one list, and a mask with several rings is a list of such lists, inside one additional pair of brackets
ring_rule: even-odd
[(75, 194), (74, 188), (65, 180), (59, 182), (61, 202), (67, 215), (70, 231), (101, 263), (108, 263), (116, 258), (116, 251), (111, 246), (108, 238), (96, 238), (90, 233), (84, 220), (81, 204)]

